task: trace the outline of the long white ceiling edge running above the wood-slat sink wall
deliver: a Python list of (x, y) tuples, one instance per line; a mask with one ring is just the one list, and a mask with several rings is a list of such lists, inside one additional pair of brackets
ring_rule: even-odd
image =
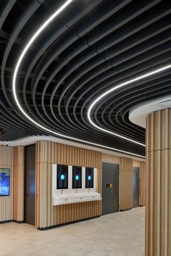
[(54, 136), (29, 136), (27, 138), (23, 138), (23, 139), (18, 139), (15, 141), (0, 141), (0, 145), (4, 145), (4, 146), (28, 146), (31, 144), (35, 144), (36, 141), (52, 141), (52, 142), (56, 142), (56, 143), (61, 143), (61, 144), (66, 144), (66, 145), (70, 145), (70, 146), (78, 146), (81, 147), (83, 149), (90, 149), (90, 150), (94, 150), (94, 151), (98, 151), (104, 154), (112, 154), (114, 156), (117, 157), (128, 157), (130, 159), (133, 160), (138, 160), (138, 161), (143, 161), (145, 162), (146, 160), (141, 158), (141, 157), (134, 157), (132, 155), (128, 155), (128, 154), (123, 154), (120, 152), (114, 152), (112, 150), (108, 150), (108, 149), (101, 149), (99, 147), (96, 146), (89, 146), (86, 144), (81, 144), (75, 141), (68, 141), (65, 139), (59, 139), (56, 138)]

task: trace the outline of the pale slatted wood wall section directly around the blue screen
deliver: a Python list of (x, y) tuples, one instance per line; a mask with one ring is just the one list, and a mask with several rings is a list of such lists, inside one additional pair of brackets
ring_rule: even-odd
[(0, 146), (0, 168), (10, 169), (10, 194), (9, 197), (0, 197), (0, 221), (13, 220), (13, 170), (14, 148)]

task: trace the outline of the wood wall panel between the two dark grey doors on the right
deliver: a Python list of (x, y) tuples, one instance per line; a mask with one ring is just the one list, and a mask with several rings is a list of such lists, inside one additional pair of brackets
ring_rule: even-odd
[(120, 164), (120, 210), (133, 207), (133, 160), (121, 157)]

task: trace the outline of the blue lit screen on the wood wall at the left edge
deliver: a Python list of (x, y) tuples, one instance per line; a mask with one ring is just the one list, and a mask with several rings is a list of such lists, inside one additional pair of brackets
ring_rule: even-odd
[(9, 196), (9, 169), (0, 169), (0, 196)]

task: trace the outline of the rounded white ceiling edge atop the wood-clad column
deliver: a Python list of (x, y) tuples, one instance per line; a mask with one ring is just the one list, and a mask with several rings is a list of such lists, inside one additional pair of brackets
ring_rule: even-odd
[(146, 128), (146, 116), (151, 112), (165, 110), (166, 108), (171, 108), (171, 95), (136, 105), (129, 111), (130, 122)]

